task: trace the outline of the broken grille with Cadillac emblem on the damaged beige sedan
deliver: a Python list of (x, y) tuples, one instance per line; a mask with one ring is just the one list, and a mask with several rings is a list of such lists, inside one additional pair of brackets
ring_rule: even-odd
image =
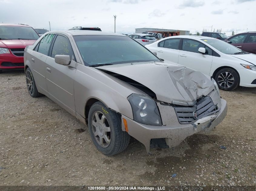
[[(201, 97), (194, 106), (175, 106), (174, 109), (181, 124), (193, 123), (197, 119), (219, 111), (209, 96)], [(196, 119), (194, 112), (197, 113)]]

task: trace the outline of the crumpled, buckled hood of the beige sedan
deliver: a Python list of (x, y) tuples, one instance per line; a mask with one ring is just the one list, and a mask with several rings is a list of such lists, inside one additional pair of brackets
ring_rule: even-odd
[(129, 63), (97, 68), (131, 78), (151, 89), (158, 100), (167, 103), (192, 103), (214, 89), (212, 81), (201, 72), (176, 64)]

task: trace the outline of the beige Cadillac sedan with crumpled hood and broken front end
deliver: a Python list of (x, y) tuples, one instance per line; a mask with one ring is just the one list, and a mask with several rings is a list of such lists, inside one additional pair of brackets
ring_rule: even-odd
[(190, 68), (165, 63), (135, 40), (100, 31), (50, 31), (24, 54), (28, 92), (46, 95), (83, 123), (105, 155), (130, 136), (175, 147), (209, 132), (226, 116), (218, 85)]

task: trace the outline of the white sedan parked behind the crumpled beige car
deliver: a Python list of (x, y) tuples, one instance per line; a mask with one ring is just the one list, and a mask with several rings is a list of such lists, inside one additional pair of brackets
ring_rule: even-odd
[(256, 87), (256, 55), (211, 37), (174, 36), (146, 45), (161, 59), (198, 70), (222, 90)]

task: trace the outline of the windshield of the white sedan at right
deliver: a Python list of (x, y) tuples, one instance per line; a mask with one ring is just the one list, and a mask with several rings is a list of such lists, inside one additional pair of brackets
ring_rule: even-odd
[(226, 43), (222, 40), (218, 40), (218, 39), (214, 39), (214, 38), (208, 38), (208, 39), (202, 39), (202, 40), (224, 54), (238, 54), (238, 53), (244, 54), (244, 53), (246, 53), (243, 50), (241, 50), (229, 43)]

